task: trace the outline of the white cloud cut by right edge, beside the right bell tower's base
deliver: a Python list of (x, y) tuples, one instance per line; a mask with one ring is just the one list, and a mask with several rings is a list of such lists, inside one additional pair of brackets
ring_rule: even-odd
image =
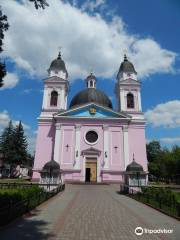
[(174, 100), (158, 104), (154, 109), (145, 113), (148, 123), (154, 127), (180, 127), (180, 101)]

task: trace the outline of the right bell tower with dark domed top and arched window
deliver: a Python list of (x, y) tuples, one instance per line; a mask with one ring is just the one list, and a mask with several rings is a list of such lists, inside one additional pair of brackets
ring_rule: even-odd
[(115, 87), (117, 99), (117, 111), (126, 112), (129, 115), (142, 112), (141, 107), (141, 84), (137, 79), (137, 72), (133, 64), (124, 55), (117, 74)]

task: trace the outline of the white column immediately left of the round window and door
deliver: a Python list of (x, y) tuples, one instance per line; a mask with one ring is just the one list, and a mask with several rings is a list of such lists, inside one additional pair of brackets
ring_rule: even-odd
[(75, 125), (75, 156), (74, 168), (80, 169), (80, 140), (81, 140), (81, 125)]

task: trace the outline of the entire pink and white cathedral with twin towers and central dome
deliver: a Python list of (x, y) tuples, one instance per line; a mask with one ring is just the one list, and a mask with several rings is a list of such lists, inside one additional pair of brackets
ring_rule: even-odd
[(116, 109), (96, 83), (90, 73), (85, 88), (67, 106), (65, 62), (60, 53), (51, 62), (38, 118), (34, 180), (52, 161), (65, 182), (124, 182), (132, 165), (147, 173), (141, 83), (134, 65), (125, 55), (115, 84)]

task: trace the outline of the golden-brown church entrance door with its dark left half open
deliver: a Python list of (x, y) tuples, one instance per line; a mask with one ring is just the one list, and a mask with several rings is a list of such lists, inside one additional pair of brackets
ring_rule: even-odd
[(87, 159), (86, 160), (86, 182), (96, 182), (97, 181), (97, 159)]

